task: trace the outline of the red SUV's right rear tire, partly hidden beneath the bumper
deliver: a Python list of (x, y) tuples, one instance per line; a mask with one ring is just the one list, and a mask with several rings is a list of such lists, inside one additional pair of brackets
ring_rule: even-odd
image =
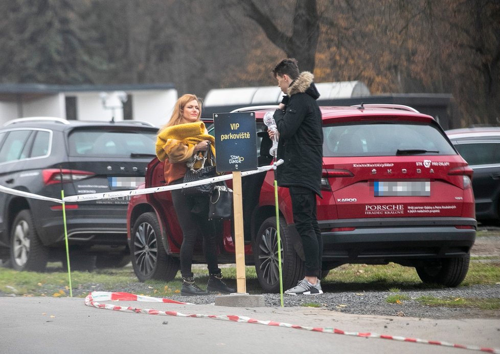
[(415, 267), (424, 283), (457, 287), (469, 270), (470, 255), (421, 262)]

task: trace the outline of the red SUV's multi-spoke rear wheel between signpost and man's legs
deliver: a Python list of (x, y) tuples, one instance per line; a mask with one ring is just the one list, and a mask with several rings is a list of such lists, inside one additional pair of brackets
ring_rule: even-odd
[[(304, 276), (304, 262), (293, 248), (284, 218), (280, 218), (281, 262), (283, 288), (297, 284)], [(264, 220), (254, 240), (254, 261), (257, 279), (265, 292), (279, 293), (278, 233), (276, 217)]]

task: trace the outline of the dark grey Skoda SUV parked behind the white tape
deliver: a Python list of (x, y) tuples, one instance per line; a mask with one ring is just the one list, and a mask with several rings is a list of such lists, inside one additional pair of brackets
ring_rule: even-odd
[[(134, 189), (155, 156), (157, 128), (137, 121), (19, 118), (0, 129), (0, 185), (45, 197)], [(65, 257), (62, 204), (0, 191), (0, 259), (43, 271)], [(71, 268), (129, 261), (128, 197), (66, 203)]]

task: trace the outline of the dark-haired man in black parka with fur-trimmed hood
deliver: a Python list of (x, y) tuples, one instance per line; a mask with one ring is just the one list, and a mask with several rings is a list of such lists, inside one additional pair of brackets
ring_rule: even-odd
[[(288, 187), (292, 200), (293, 222), (302, 239), (306, 259), (305, 278), (289, 295), (322, 294), (321, 258), (323, 242), (316, 217), (316, 195), (321, 195), (323, 169), (323, 129), (320, 96), (308, 71), (299, 72), (297, 60), (284, 59), (272, 70), (286, 96), (274, 114), (279, 142), (278, 185)], [(272, 138), (274, 132), (269, 130)]]

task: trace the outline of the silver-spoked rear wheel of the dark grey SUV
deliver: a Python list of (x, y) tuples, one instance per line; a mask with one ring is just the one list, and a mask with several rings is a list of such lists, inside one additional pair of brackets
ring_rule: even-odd
[(10, 263), (15, 270), (44, 272), (49, 260), (45, 246), (35, 230), (29, 210), (21, 210), (12, 223), (10, 235)]

